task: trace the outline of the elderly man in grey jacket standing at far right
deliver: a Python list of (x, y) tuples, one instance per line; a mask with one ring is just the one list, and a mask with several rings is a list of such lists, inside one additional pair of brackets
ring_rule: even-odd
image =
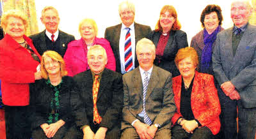
[(255, 138), (256, 132), (256, 27), (248, 24), (248, 1), (231, 4), (234, 27), (221, 31), (212, 54), (214, 76), (220, 84), (223, 138)]

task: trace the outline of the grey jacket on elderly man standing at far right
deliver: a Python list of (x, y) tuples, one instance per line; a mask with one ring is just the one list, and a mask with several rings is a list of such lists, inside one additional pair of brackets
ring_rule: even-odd
[(241, 96), (245, 108), (256, 107), (256, 27), (248, 25), (232, 52), (233, 27), (218, 33), (212, 54), (212, 68), (218, 83), (231, 81)]

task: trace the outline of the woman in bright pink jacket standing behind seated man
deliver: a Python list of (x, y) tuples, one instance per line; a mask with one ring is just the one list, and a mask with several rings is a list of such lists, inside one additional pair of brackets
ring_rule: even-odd
[(77, 73), (81, 73), (89, 69), (87, 62), (87, 51), (93, 45), (101, 45), (105, 48), (108, 63), (106, 68), (115, 71), (115, 57), (110, 47), (109, 41), (104, 38), (97, 38), (97, 24), (93, 19), (85, 18), (79, 24), (80, 40), (71, 41), (68, 44), (67, 52), (64, 55), (68, 76), (73, 77)]

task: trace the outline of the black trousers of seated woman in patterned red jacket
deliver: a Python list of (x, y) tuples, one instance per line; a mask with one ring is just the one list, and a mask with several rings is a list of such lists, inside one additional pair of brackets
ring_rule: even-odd
[(209, 128), (206, 126), (202, 128), (196, 128), (193, 133), (187, 133), (182, 126), (179, 124), (175, 124), (172, 127), (172, 138), (173, 139), (184, 139), (184, 138), (190, 138), (190, 139), (211, 139), (214, 138), (214, 135), (212, 135), (212, 132)]

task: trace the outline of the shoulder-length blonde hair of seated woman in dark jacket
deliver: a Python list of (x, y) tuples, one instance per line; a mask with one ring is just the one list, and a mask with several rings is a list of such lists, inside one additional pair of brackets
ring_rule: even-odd
[(47, 73), (47, 71), (45, 69), (45, 63), (44, 63), (44, 58), (46, 56), (51, 57), (51, 59), (53, 59), (54, 61), (60, 62), (60, 74), (61, 74), (61, 77), (64, 77), (64, 76), (66, 76), (68, 74), (68, 71), (65, 68), (65, 61), (63, 60), (61, 55), (58, 54), (58, 52), (55, 52), (55, 51), (52, 51), (52, 50), (47, 50), (42, 55), (42, 61), (41, 61), (41, 72), (42, 72), (42, 77), (43, 78), (45, 78), (45, 79), (48, 78), (48, 73)]

